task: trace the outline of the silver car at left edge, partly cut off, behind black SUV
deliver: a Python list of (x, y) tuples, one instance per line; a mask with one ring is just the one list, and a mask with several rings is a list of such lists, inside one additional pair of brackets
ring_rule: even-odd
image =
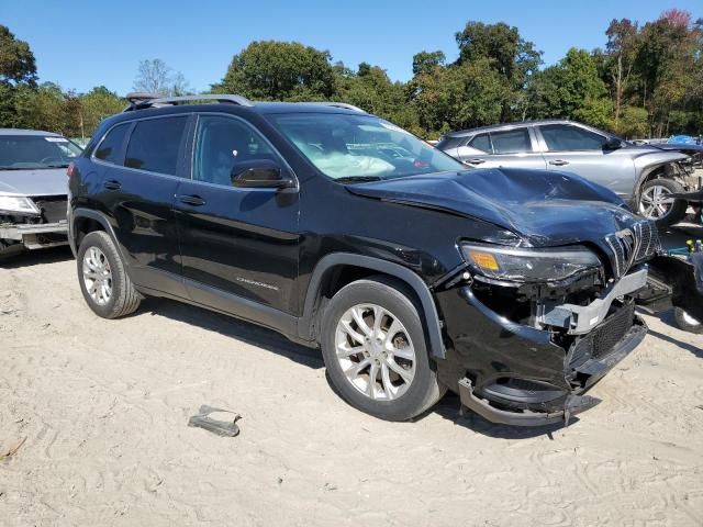
[(67, 243), (66, 169), (80, 152), (58, 134), (0, 128), (0, 258)]

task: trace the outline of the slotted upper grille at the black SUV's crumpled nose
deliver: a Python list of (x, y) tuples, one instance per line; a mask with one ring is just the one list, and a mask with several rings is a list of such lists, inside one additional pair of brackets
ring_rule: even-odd
[(609, 234), (605, 242), (612, 249), (613, 278), (620, 278), (626, 274), (634, 264), (655, 256), (659, 248), (659, 233), (654, 222), (645, 220), (635, 223), (631, 228)]

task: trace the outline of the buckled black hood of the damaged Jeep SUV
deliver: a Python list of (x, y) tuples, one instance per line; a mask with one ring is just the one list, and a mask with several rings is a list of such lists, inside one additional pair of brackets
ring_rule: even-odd
[(532, 246), (591, 242), (636, 222), (613, 192), (579, 176), (515, 168), (412, 176), (354, 184), (367, 198), (490, 222)]

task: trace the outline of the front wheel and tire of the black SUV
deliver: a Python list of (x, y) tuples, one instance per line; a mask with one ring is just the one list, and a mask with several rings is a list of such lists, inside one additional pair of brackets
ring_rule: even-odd
[(343, 288), (327, 305), (322, 354), (342, 397), (386, 421), (408, 421), (446, 392), (422, 319), (402, 282), (377, 277)]

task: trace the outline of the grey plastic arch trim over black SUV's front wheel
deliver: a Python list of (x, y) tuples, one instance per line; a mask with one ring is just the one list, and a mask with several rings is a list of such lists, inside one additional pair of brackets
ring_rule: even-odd
[[(406, 284), (420, 302), (427, 345), (432, 356), (436, 358), (445, 357), (439, 314), (429, 289), (420, 276), (399, 264), (350, 253), (327, 255), (315, 266), (308, 285), (303, 314), (299, 323), (299, 336), (301, 338), (306, 340), (316, 340), (319, 338), (321, 307), (323, 306), (325, 292), (330, 291), (331, 283), (334, 284), (336, 282), (335, 277), (339, 277), (339, 273), (359, 278), (380, 273), (393, 277)], [(346, 285), (350, 281), (353, 280), (342, 280), (342, 285)]]

